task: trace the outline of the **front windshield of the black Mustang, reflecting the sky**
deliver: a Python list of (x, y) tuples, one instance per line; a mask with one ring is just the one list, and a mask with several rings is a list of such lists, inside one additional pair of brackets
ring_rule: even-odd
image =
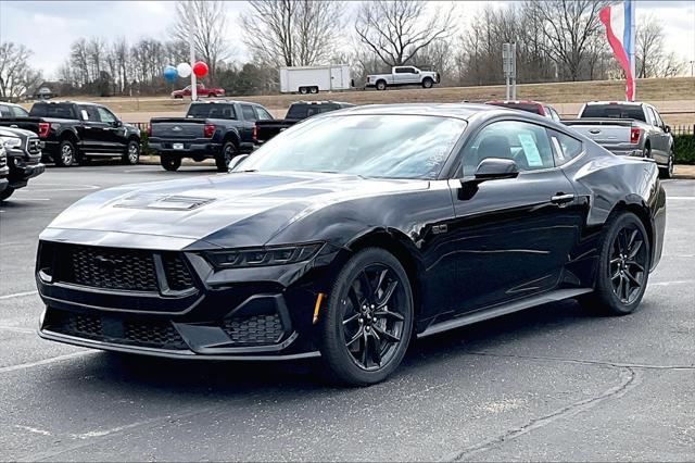
[(432, 179), (465, 128), (465, 121), (452, 117), (329, 115), (281, 133), (238, 170)]

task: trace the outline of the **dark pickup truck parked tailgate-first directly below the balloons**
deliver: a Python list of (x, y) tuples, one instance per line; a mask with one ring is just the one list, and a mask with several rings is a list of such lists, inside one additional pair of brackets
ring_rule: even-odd
[(167, 171), (180, 167), (184, 158), (213, 158), (217, 171), (227, 172), (233, 157), (253, 151), (256, 121), (270, 117), (261, 104), (247, 101), (194, 101), (186, 117), (153, 117), (148, 145)]

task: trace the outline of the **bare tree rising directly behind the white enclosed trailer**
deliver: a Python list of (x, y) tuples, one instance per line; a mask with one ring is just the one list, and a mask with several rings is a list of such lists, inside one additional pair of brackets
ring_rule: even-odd
[(242, 13), (243, 41), (257, 62), (276, 66), (326, 63), (343, 28), (344, 3), (319, 0), (251, 0)]

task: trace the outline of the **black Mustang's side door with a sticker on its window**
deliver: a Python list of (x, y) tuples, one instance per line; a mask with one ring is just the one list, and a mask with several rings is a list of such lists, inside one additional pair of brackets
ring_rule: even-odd
[[(511, 159), (520, 172), (479, 182), (476, 168), (486, 158)], [(555, 166), (544, 126), (505, 120), (481, 128), (464, 147), (450, 188), (459, 312), (557, 286), (582, 215), (571, 183)]]

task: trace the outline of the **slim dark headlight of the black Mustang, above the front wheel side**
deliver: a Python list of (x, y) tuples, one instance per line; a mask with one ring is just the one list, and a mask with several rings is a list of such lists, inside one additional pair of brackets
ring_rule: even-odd
[(217, 268), (260, 267), (268, 265), (294, 264), (308, 261), (318, 253), (324, 243), (283, 246), (277, 248), (237, 249), (213, 251), (207, 259)]

